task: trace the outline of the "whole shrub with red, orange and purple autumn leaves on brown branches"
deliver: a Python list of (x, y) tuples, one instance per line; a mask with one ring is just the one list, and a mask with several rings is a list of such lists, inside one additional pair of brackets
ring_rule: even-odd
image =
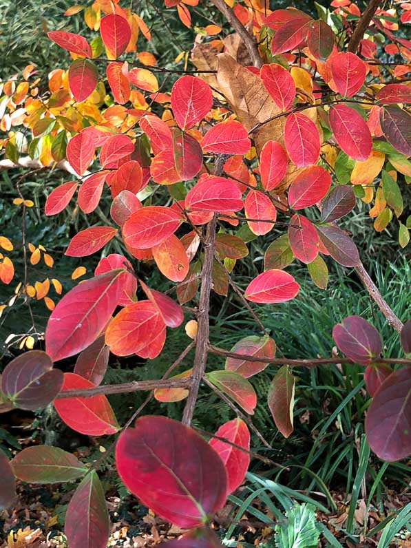
[[(166, 0), (165, 7), (189, 27), (197, 4)], [(191, 63), (182, 54), (185, 68), (176, 70), (171, 89), (168, 76), (176, 71), (156, 65), (140, 41), (137, 48), (139, 34), (150, 39), (139, 14), (105, 0), (74, 6), (66, 14), (83, 10), (95, 35), (87, 41), (62, 30), (48, 33), (55, 47), (72, 56), (68, 69), (50, 73), (48, 92), (39, 92), (34, 65), (2, 84), (3, 169), (54, 167), (72, 174), (48, 196), (48, 216), (72, 200), (89, 215), (103, 193), (109, 196), (109, 218), (76, 233), (65, 255), (86, 257), (109, 242), (120, 243), (122, 253), (104, 256), (94, 276), (57, 304), (58, 277), (32, 285), (25, 268), (2, 312), (18, 299), (29, 310), (32, 299), (43, 299), (51, 313), (45, 333), (37, 333), (33, 322), (20, 341), (29, 350), (4, 369), (1, 410), (34, 411), (52, 402), (73, 430), (113, 436), (125, 485), (156, 514), (189, 529), (171, 546), (220, 546), (208, 524), (249, 467), (250, 417), (257, 403), (249, 378), (269, 363), (279, 368), (267, 405), (284, 436), (293, 432), (294, 367), (359, 363), (372, 397), (366, 412), (370, 447), (386, 461), (410, 454), (411, 322), (394, 315), (355, 242), (339, 227), (363, 200), (372, 203), (377, 231), (392, 223), (399, 246), (408, 244), (410, 220), (403, 214), (401, 188), (411, 176), (406, 78), (411, 44), (399, 28), (410, 21), (410, 6), (370, 1), (361, 13), (349, 0), (332, 5), (332, 12), (320, 10), (315, 19), (293, 8), (271, 11), (259, 0), (211, 0), (209, 6), (233, 32), (222, 38), (217, 25), (198, 28)], [(393, 61), (379, 59), (383, 41)], [(25, 240), (25, 216), (34, 202), (24, 178), (25, 173), (17, 180), (14, 199), (21, 208), (23, 260), (53, 268), (45, 247)], [(236, 263), (249, 253), (254, 236), (275, 225), (283, 233), (267, 246), (264, 270), (242, 291), (235, 283)], [(14, 278), (14, 244), (0, 239), (4, 284)], [(341, 318), (333, 329), (339, 356), (276, 357), (275, 340), (253, 303), (281, 306), (297, 297), (299, 283), (286, 272), (294, 260), (307, 266), (320, 288), (328, 281), (327, 262), (354, 268), (399, 332), (405, 357), (381, 357), (378, 331), (359, 316)], [(142, 264), (158, 268), (173, 291), (147, 286)], [(79, 267), (72, 277), (83, 274)], [(226, 350), (209, 340), (209, 308), (214, 293), (225, 296), (229, 287), (258, 334)], [(109, 352), (153, 359), (167, 330), (182, 328), (184, 313), (192, 317), (185, 330), (193, 341), (162, 379), (102, 384)], [(36, 341), (44, 341), (45, 351), (30, 350)], [(192, 349), (192, 368), (176, 375)], [(224, 370), (207, 370), (209, 355), (224, 358)], [(75, 360), (74, 372), (54, 367), (67, 359)], [(209, 443), (190, 427), (203, 385), (237, 414)], [(136, 418), (143, 405), (121, 428), (107, 394), (135, 390), (152, 391), (162, 402), (185, 399), (182, 422)], [(15, 478), (29, 483), (80, 478), (65, 521), (70, 548), (104, 547), (109, 520), (98, 466), (45, 445), (25, 448), (12, 461), (1, 454), (0, 503), (12, 503)]]

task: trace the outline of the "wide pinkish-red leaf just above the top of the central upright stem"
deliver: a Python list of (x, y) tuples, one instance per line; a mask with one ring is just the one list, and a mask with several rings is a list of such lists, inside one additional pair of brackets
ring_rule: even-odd
[(214, 154), (246, 154), (251, 147), (249, 134), (237, 120), (226, 120), (214, 125), (201, 141), (204, 152)]

